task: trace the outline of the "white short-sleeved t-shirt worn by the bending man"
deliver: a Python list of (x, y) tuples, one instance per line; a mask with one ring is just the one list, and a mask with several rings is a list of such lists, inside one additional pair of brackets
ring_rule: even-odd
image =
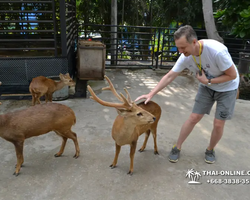
[[(229, 69), (232, 65), (234, 65), (237, 71), (237, 78), (234, 80), (206, 86), (218, 92), (226, 92), (237, 89), (239, 86), (239, 74), (227, 47), (222, 43), (212, 39), (205, 39), (202, 41), (203, 51), (201, 54), (201, 66), (208, 79), (221, 76), (224, 74), (224, 71)], [(194, 57), (196, 62), (199, 64), (199, 56)], [(172, 70), (174, 72), (181, 72), (185, 68), (194, 72), (194, 74), (199, 72), (199, 68), (197, 67), (192, 55), (186, 57), (184, 54), (181, 54)]]

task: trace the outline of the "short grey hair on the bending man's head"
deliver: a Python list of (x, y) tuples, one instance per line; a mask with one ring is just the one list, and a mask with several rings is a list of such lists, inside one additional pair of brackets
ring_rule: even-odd
[(197, 39), (195, 31), (190, 25), (182, 26), (177, 31), (175, 31), (174, 40), (178, 40), (182, 36), (185, 36), (189, 43), (191, 43), (193, 39)]

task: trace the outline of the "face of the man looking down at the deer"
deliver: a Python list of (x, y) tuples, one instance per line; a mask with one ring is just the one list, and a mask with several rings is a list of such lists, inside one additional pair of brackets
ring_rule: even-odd
[(180, 53), (183, 53), (186, 57), (195, 55), (195, 43), (196, 39), (193, 39), (192, 43), (189, 43), (185, 36), (178, 40), (175, 40), (175, 45)]

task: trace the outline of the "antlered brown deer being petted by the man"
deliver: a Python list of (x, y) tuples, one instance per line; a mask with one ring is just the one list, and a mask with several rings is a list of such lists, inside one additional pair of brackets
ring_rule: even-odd
[(112, 169), (116, 167), (121, 146), (129, 144), (130, 169), (128, 174), (132, 175), (134, 171), (134, 154), (137, 140), (141, 134), (146, 132), (144, 143), (139, 151), (143, 152), (150, 132), (152, 132), (154, 137), (154, 153), (159, 154), (156, 142), (156, 129), (158, 121), (161, 117), (161, 108), (153, 101), (148, 102), (146, 105), (144, 102), (135, 104), (131, 101), (130, 94), (126, 89), (124, 90), (127, 93), (127, 98), (125, 98), (123, 94), (119, 95), (109, 78), (107, 76), (105, 76), (105, 78), (109, 83), (109, 87), (103, 88), (103, 90), (111, 90), (122, 103), (112, 103), (101, 100), (88, 85), (88, 90), (92, 95), (90, 98), (94, 99), (103, 106), (114, 107), (117, 109), (118, 116), (116, 117), (112, 127), (112, 137), (115, 140), (116, 153), (114, 161), (110, 167)]

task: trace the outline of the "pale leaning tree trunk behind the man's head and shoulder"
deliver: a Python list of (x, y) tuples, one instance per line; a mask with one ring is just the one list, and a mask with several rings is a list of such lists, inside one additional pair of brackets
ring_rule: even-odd
[(203, 10), (207, 37), (209, 39), (214, 39), (221, 43), (224, 43), (223, 38), (219, 36), (219, 33), (215, 26), (212, 0), (202, 0), (202, 10)]

